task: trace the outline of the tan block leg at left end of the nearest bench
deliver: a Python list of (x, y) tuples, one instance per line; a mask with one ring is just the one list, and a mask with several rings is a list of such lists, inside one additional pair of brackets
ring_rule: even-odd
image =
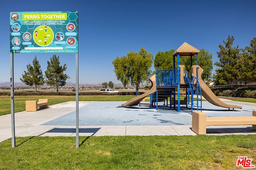
[(201, 111), (192, 112), (192, 131), (198, 135), (206, 134), (206, 114)]

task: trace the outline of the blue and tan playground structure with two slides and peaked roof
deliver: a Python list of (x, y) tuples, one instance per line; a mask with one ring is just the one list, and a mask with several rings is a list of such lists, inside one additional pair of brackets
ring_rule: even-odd
[[(158, 102), (166, 101), (166, 106), (168, 107), (168, 98), (169, 107), (176, 109), (180, 112), (180, 105), (186, 105), (186, 108), (191, 108), (191, 114), (193, 109), (202, 111), (202, 96), (211, 104), (220, 107), (230, 108), (240, 108), (241, 106), (228, 105), (220, 101), (215, 94), (210, 90), (210, 88), (202, 80), (201, 75), (203, 69), (198, 65), (198, 53), (200, 51), (188, 43), (183, 43), (174, 53), (173, 53), (173, 68), (168, 70), (156, 70), (156, 74), (150, 77), (150, 82), (152, 84), (150, 90), (145, 94), (137, 96), (125, 104), (122, 104), (123, 107), (127, 106), (136, 106), (140, 102), (150, 95), (150, 105), (158, 109)], [(192, 65), (192, 57), (196, 55), (196, 65)], [(188, 75), (188, 72), (185, 70), (184, 65), (180, 65), (180, 56), (190, 56), (190, 68), (191, 72)], [(175, 58), (177, 57), (177, 67)], [(186, 97), (184, 100), (180, 100), (180, 91), (185, 89)], [(176, 100), (177, 95), (177, 100)], [(177, 106), (177, 108), (176, 108)]]

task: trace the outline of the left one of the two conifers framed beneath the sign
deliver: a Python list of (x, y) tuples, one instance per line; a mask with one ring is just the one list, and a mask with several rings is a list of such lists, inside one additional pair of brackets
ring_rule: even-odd
[(33, 66), (30, 64), (27, 65), (28, 71), (24, 71), (24, 74), (22, 74), (22, 78), (20, 78), (20, 80), (28, 86), (34, 86), (37, 92), (38, 86), (44, 84), (44, 77), (36, 56), (32, 63)]

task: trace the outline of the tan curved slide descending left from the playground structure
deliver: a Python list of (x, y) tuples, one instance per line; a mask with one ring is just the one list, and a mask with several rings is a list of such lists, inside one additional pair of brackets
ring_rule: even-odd
[(136, 106), (138, 105), (144, 98), (146, 98), (148, 95), (156, 92), (156, 74), (154, 74), (153, 76), (151, 76), (149, 78), (150, 82), (151, 82), (151, 88), (144, 94), (137, 96), (131, 100), (129, 100), (128, 102), (126, 102), (125, 104), (122, 104), (122, 107), (126, 107), (126, 106)]

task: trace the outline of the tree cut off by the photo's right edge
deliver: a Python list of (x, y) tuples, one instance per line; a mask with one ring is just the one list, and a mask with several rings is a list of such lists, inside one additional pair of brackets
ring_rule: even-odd
[(256, 81), (256, 37), (250, 41), (250, 47), (246, 46), (242, 51), (240, 61), (241, 78)]

